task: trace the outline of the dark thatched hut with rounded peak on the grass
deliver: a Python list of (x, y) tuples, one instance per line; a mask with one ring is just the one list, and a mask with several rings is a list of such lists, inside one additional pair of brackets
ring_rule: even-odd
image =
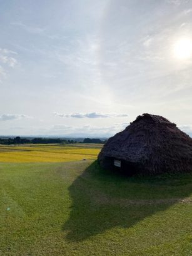
[(192, 139), (163, 116), (143, 114), (109, 138), (98, 160), (128, 175), (192, 172)]

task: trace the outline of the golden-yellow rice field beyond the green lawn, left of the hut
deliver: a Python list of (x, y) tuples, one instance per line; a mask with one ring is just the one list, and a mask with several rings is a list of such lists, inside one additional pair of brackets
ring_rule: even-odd
[(101, 146), (97, 146), (97, 148), (88, 148), (84, 145), (0, 145), (0, 162), (34, 163), (75, 161), (83, 159), (94, 160), (97, 158)]

